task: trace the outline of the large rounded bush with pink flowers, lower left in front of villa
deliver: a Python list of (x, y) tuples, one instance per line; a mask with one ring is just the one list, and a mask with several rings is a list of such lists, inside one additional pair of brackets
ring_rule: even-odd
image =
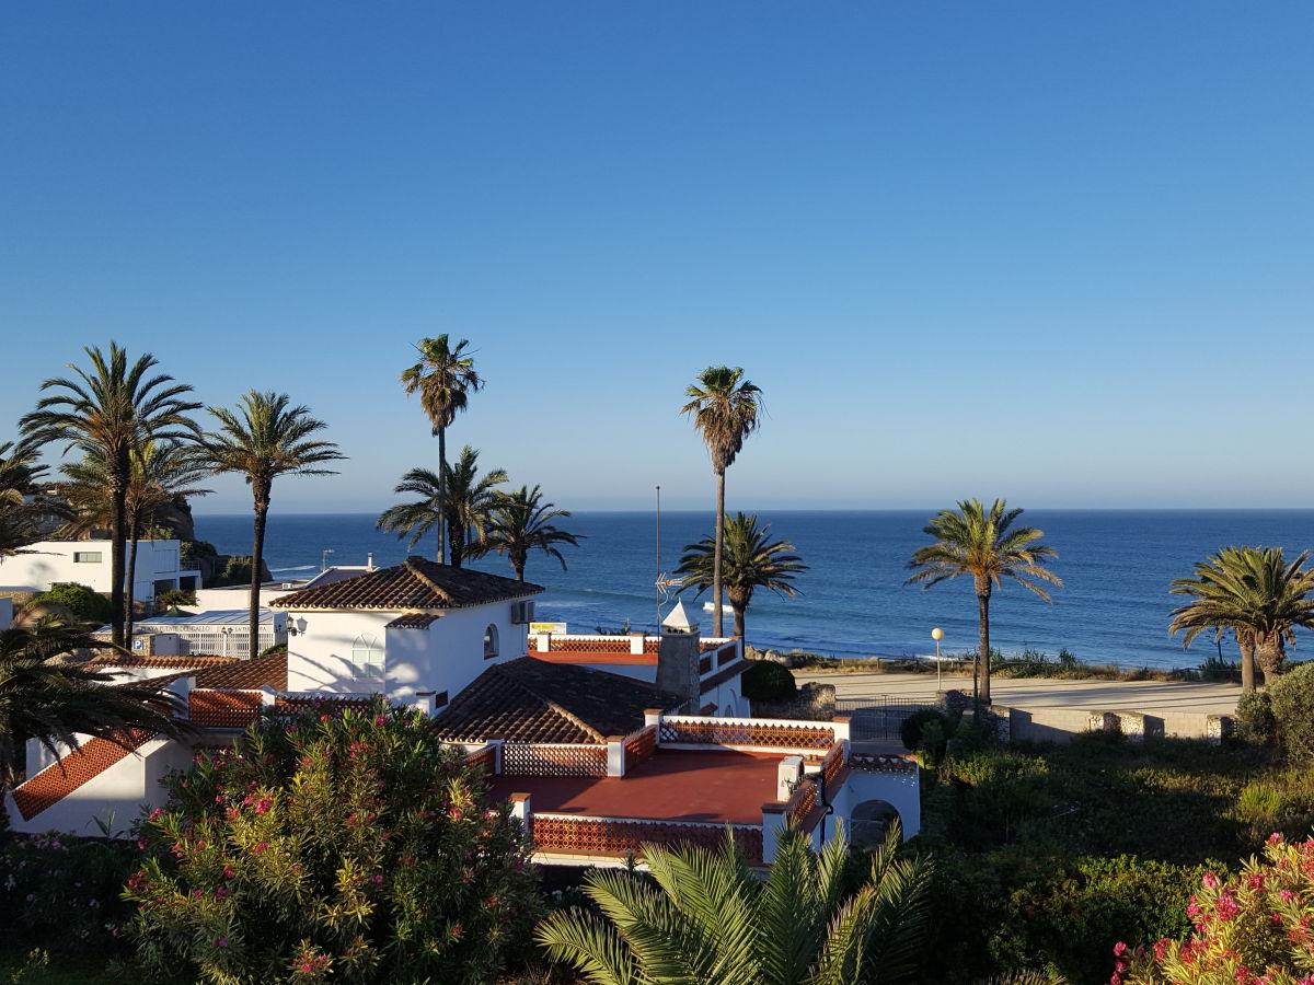
[(160, 977), (487, 982), (530, 940), (520, 823), (415, 712), (269, 720), (168, 789), (125, 893)]

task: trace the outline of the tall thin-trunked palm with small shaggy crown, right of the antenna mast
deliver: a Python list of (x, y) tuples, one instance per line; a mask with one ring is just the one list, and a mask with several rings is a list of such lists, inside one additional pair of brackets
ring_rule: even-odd
[(762, 390), (744, 380), (744, 369), (708, 366), (686, 390), (689, 403), (681, 414), (694, 415), (694, 427), (703, 435), (716, 473), (716, 552), (712, 569), (715, 636), (721, 636), (721, 550), (725, 544), (725, 470), (752, 435), (762, 412)]

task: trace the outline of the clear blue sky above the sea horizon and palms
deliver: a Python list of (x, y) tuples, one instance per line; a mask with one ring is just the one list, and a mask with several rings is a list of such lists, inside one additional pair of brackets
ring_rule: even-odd
[[(558, 506), (1310, 506), (1307, 3), (0, 9), (0, 440), (110, 339), (285, 390), (377, 510), (449, 432)], [(201, 512), (248, 502), (222, 481)]]

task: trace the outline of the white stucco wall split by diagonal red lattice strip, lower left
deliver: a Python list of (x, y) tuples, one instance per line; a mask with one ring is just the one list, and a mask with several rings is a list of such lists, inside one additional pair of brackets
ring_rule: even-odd
[[(81, 737), (85, 742), (87, 737)], [(14, 831), (72, 831), (80, 835), (99, 835), (96, 820), (105, 821), (113, 831), (126, 831), (146, 810), (162, 806), (168, 799), (159, 781), (171, 770), (185, 770), (192, 762), (191, 749), (172, 739), (155, 739), (129, 754), (112, 767), (92, 777), (58, 804), (42, 810), (28, 821), (22, 820), (5, 795), (9, 826)], [(110, 818), (110, 814), (113, 817)]]

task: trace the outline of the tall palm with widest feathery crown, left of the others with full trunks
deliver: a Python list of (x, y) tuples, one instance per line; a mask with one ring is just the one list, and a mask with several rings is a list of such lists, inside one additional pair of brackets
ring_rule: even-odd
[(127, 483), (131, 474), (131, 454), (146, 441), (155, 439), (189, 439), (196, 433), (196, 423), (188, 416), (201, 405), (184, 395), (191, 386), (173, 381), (163, 373), (148, 376), (156, 365), (150, 353), (129, 362), (127, 351), (117, 343), (109, 344), (108, 356), (96, 347), (83, 349), (91, 361), (84, 370), (70, 365), (72, 377), (55, 377), (42, 382), (41, 389), (53, 391), (37, 403), (21, 424), (24, 433), (34, 441), (67, 441), (83, 450), (99, 449), (105, 460), (105, 478), (109, 483), (110, 503), (110, 603), (114, 617), (110, 637), (116, 646), (124, 644), (124, 545), (127, 541)]

